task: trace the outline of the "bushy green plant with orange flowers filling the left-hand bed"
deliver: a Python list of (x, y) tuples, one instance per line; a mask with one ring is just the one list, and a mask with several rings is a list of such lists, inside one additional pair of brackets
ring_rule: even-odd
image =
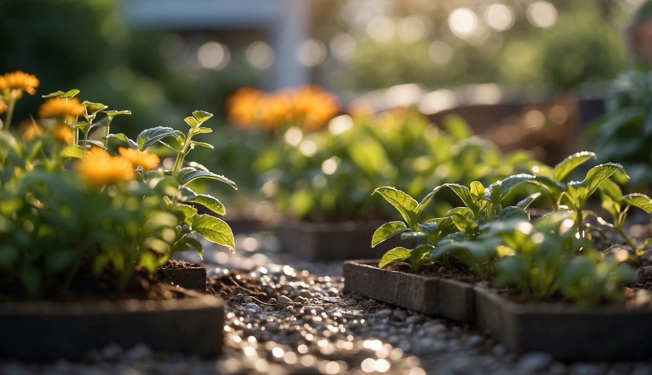
[[(237, 188), (186, 160), (196, 146), (212, 148), (194, 137), (211, 132), (203, 123), (213, 115), (194, 111), (185, 119), (187, 133), (159, 126), (143, 130), (134, 141), (109, 130), (115, 116), (129, 111), (80, 102), (78, 93), (44, 96), (41, 119), (27, 128), (41, 131), (23, 133), (24, 141), (0, 130), (0, 286), (40, 296), (65, 288), (81, 272), (98, 277), (110, 271), (124, 287), (136, 271), (153, 275), (177, 251), (194, 249), (202, 255), (194, 234), (233, 251), (228, 224), (198, 214), (194, 206), (222, 215), (222, 202), (188, 186), (212, 179)], [(97, 120), (102, 113), (105, 117)], [(90, 130), (102, 127), (103, 141), (89, 139)], [(110, 139), (127, 147), (115, 152), (106, 147)], [(158, 167), (159, 158), (151, 152), (155, 145), (175, 152), (173, 167)]]

